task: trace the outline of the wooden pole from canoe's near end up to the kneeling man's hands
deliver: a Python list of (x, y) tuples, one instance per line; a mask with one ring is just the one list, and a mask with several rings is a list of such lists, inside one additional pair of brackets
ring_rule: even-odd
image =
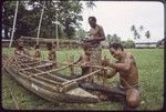
[(79, 81), (79, 80), (83, 80), (83, 79), (85, 79), (85, 78), (89, 78), (89, 77), (91, 77), (91, 75), (94, 75), (95, 73), (100, 72), (101, 70), (102, 70), (102, 69), (96, 70), (96, 71), (94, 71), (94, 72), (91, 72), (91, 73), (89, 73), (89, 74), (86, 74), (86, 75), (80, 77), (80, 78), (77, 78), (77, 79), (73, 79), (73, 80), (66, 81), (66, 82), (62, 83), (62, 85), (65, 85), (65, 84), (69, 84), (69, 83), (71, 83), (71, 82), (75, 82), (75, 81)]

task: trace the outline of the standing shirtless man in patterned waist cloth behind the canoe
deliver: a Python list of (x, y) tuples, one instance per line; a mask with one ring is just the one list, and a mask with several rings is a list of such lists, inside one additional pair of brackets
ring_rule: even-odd
[[(101, 48), (101, 41), (105, 40), (104, 30), (101, 26), (96, 24), (96, 18), (90, 17), (89, 23), (91, 26), (90, 30), (90, 38), (85, 39), (85, 43), (90, 43), (92, 45), (92, 54), (90, 58), (91, 64), (100, 65), (101, 64), (101, 54), (102, 54), (102, 48)], [(92, 69), (91, 71), (95, 71), (97, 69)], [(93, 82), (101, 83), (98, 77), (94, 77), (92, 79)]]

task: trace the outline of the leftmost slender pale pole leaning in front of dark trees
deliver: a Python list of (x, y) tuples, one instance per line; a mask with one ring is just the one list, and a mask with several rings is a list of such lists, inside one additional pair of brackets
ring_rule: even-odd
[(14, 20), (13, 20), (12, 33), (11, 33), (9, 48), (11, 48), (11, 44), (12, 44), (12, 41), (13, 41), (13, 34), (14, 34), (14, 29), (15, 29), (15, 21), (17, 21), (17, 16), (18, 16), (18, 7), (19, 7), (19, 1), (17, 1), (17, 6), (15, 6), (15, 13), (14, 13)]

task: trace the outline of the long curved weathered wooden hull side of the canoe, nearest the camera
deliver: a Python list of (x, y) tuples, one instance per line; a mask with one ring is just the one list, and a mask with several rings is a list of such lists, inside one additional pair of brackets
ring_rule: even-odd
[[(70, 94), (68, 92), (59, 93), (54, 89), (49, 89), (46, 86), (43, 86), (44, 83), (38, 83), (34, 81), (35, 79), (29, 78), (27, 75), (22, 75), (20, 72), (13, 70), (13, 68), (7, 65), (4, 70), (12, 75), (21, 85), (23, 85), (25, 89), (32, 91), (37, 95), (40, 95), (41, 98), (52, 101), (52, 102), (64, 102), (64, 103), (96, 103), (98, 102), (97, 96), (80, 96)], [(45, 84), (46, 85), (46, 84)], [(72, 90), (71, 90), (72, 91)]]

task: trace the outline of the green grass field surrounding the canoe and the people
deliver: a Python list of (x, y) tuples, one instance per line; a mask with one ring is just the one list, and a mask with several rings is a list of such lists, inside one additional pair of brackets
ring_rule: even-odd
[[(10, 54), (13, 49), (2, 49), (2, 53)], [(164, 103), (164, 49), (127, 49), (136, 59), (139, 84), (141, 105), (137, 110), (160, 110)], [(68, 57), (79, 58), (82, 50), (58, 51), (58, 60), (64, 61)], [(113, 59), (108, 50), (103, 50), (102, 54)], [(46, 51), (42, 52), (44, 59)], [(108, 80), (110, 84), (116, 85), (118, 75)], [(15, 110), (14, 101), (10, 89), (15, 95), (19, 109), (21, 110), (123, 110), (121, 102), (100, 102), (96, 104), (65, 104), (49, 102), (21, 86), (6, 71), (2, 71), (2, 106), (6, 110)]]

